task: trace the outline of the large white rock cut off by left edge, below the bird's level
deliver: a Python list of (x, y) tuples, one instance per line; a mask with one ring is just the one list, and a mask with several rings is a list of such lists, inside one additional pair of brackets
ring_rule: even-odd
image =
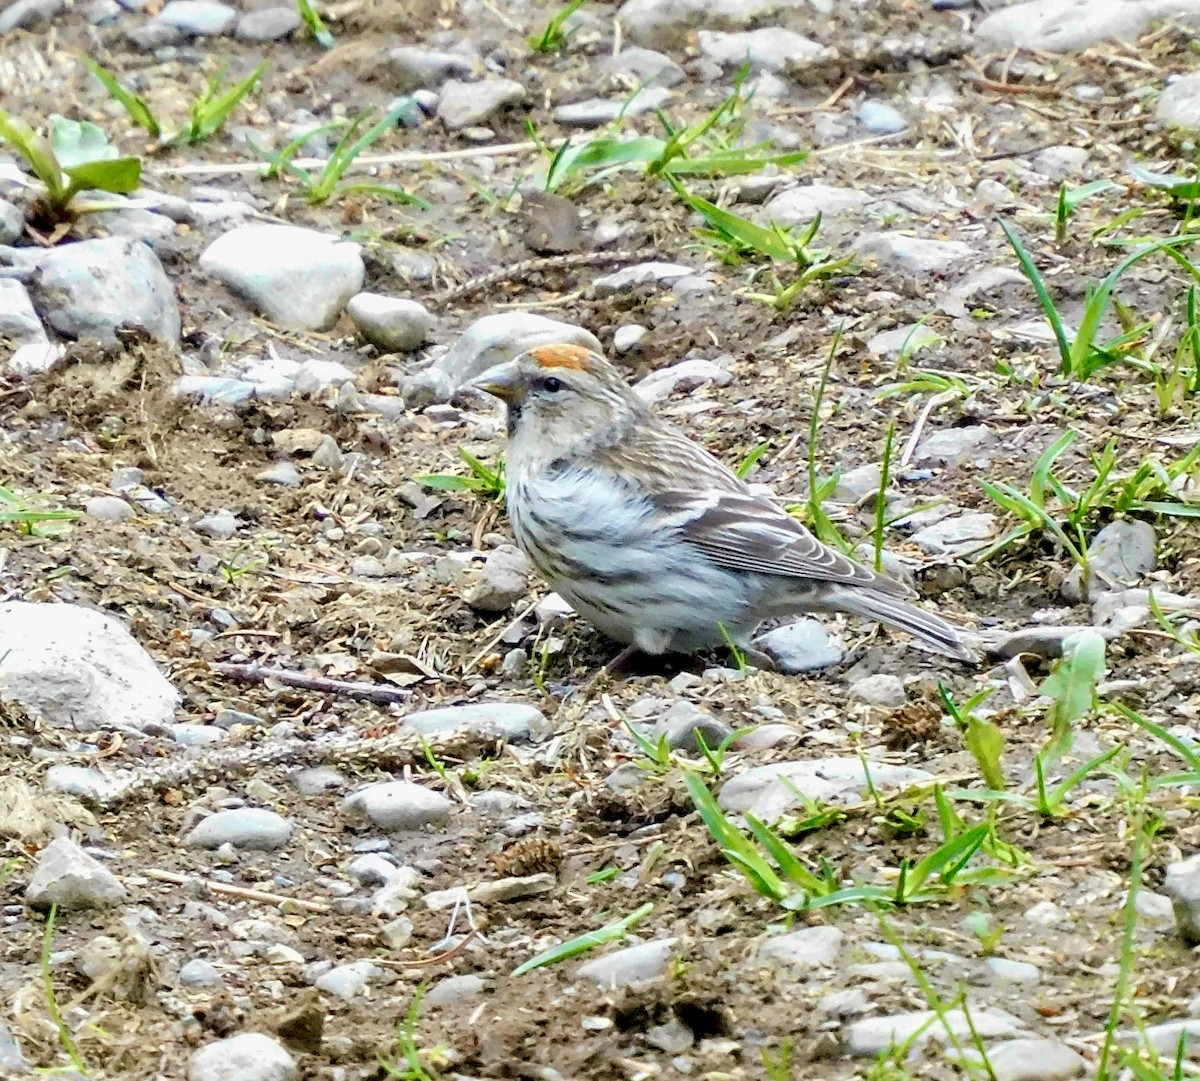
[(60, 727), (169, 723), (179, 692), (115, 619), (80, 605), (0, 605), (0, 699)]

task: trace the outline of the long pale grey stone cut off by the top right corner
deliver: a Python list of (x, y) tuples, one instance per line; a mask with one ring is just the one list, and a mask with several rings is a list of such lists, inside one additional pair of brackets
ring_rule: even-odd
[(1002, 49), (1074, 53), (1112, 37), (1133, 41), (1156, 19), (1186, 16), (1194, 23), (1198, 14), (1196, 0), (1026, 0), (992, 11), (974, 32)]

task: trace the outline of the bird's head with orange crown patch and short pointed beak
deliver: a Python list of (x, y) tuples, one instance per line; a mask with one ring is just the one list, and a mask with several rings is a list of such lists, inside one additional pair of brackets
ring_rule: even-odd
[(551, 456), (616, 437), (646, 415), (620, 373), (583, 346), (535, 346), (472, 385), (508, 406), (510, 440)]

